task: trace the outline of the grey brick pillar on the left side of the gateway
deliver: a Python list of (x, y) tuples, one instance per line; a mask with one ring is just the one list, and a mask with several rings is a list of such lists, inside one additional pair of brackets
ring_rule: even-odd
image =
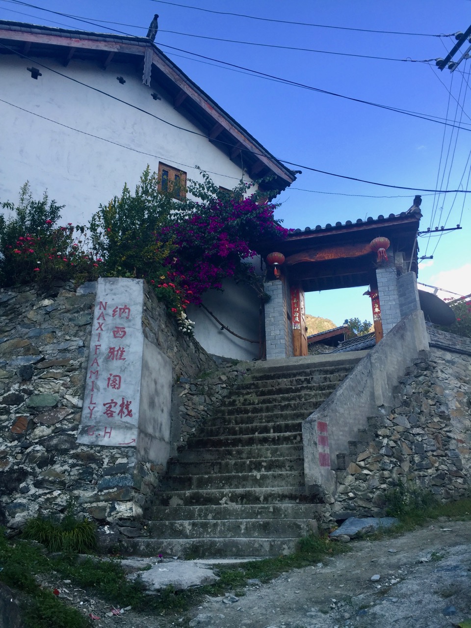
[(265, 304), (266, 359), (290, 357), (288, 318), (286, 316), (286, 289), (284, 281), (274, 279), (265, 283), (265, 292), (271, 296)]

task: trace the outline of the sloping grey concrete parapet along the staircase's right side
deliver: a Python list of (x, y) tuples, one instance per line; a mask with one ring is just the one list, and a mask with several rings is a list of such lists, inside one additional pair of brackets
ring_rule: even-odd
[[(306, 485), (335, 492), (337, 453), (348, 452), (349, 440), (367, 426), (367, 417), (393, 404), (393, 388), (421, 351), (428, 350), (421, 310), (403, 318), (364, 357), (337, 390), (303, 421)], [(378, 410), (379, 408), (379, 410)]]

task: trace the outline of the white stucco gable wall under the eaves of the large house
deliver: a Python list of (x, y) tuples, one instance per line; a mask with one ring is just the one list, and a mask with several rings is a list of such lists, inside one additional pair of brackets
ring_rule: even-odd
[[(153, 100), (154, 87), (143, 85), (142, 75), (132, 65), (111, 63), (103, 70), (98, 62), (73, 58), (68, 67), (51, 58), (41, 58), (38, 63), (201, 133), (174, 109), (164, 92), (157, 90), (162, 100)], [(66, 205), (64, 222), (86, 224), (100, 203), (121, 193), (125, 181), (133, 190), (147, 164), (158, 170), (159, 161), (163, 161), (195, 180), (201, 177), (194, 166), (200, 166), (219, 173), (211, 176), (225, 188), (233, 188), (241, 178), (240, 168), (206, 138), (176, 129), (40, 65), (36, 67), (42, 76), (35, 80), (26, 70), (31, 65), (34, 63), (13, 55), (0, 56), (1, 99), (109, 141), (0, 102), (0, 201), (16, 202), (19, 188), (28, 180), (35, 198), (47, 189), (50, 198)], [(117, 76), (124, 77), (126, 83), (121, 85)]]

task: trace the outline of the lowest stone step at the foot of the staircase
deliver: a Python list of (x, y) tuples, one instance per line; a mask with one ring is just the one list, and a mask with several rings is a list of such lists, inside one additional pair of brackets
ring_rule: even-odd
[(299, 539), (195, 538), (127, 539), (124, 553), (133, 556), (158, 556), (160, 553), (180, 558), (267, 558), (290, 554)]

